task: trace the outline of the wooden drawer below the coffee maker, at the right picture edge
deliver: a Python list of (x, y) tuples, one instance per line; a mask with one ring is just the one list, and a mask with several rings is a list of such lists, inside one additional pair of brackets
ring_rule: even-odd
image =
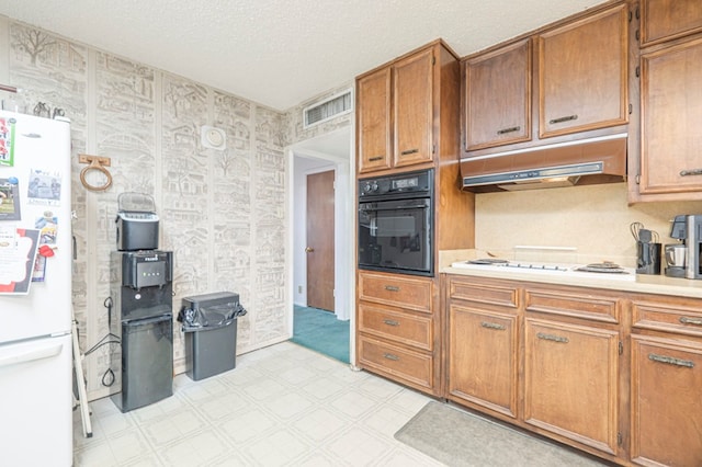
[(637, 329), (702, 338), (702, 303), (691, 305), (632, 300), (632, 323)]

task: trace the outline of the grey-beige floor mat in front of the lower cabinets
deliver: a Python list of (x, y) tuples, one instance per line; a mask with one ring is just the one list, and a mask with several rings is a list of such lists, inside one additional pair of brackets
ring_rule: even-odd
[(395, 438), (449, 466), (601, 466), (567, 447), (529, 436), (446, 403), (427, 403)]

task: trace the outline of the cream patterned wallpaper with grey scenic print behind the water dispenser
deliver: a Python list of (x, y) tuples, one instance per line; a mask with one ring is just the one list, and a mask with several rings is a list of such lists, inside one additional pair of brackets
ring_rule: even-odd
[[(27, 113), (44, 102), (71, 119), (72, 295), (83, 351), (109, 340), (110, 253), (123, 192), (156, 201), (160, 248), (174, 252), (174, 315), (183, 297), (236, 292), (248, 310), (238, 320), (237, 353), (287, 339), (285, 148), (351, 117), (306, 134), (298, 125), (302, 107), (276, 112), (4, 16), (0, 23), (8, 34), (0, 39), (9, 44), (0, 47), (0, 64), (9, 65), (8, 83), (24, 90), (19, 99)], [(203, 125), (226, 132), (225, 150), (201, 145)], [(109, 190), (81, 185), (79, 153), (111, 158)], [(173, 343), (176, 372), (182, 373), (184, 334), (177, 322)], [(86, 356), (90, 399), (110, 392), (101, 380), (111, 351), (118, 346)]]

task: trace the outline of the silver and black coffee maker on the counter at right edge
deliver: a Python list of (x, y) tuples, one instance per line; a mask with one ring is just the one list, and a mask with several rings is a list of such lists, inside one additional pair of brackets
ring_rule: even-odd
[(666, 244), (669, 277), (702, 278), (702, 214), (682, 214), (672, 220), (670, 237), (679, 243)]

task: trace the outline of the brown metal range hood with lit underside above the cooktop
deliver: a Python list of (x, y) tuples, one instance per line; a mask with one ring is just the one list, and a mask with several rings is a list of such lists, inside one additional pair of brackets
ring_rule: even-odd
[(622, 182), (626, 134), (464, 158), (461, 175), (477, 193)]

